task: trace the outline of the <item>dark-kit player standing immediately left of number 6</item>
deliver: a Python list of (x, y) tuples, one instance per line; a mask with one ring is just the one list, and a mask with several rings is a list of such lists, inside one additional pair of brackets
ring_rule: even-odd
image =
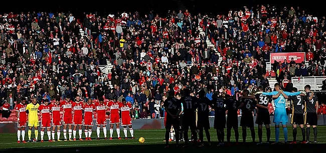
[(230, 95), (225, 95), (226, 109), (228, 110), (228, 118), (226, 121), (226, 139), (230, 144), (231, 129), (234, 130), (236, 144), (239, 142), (239, 130), (238, 130), (238, 101)]

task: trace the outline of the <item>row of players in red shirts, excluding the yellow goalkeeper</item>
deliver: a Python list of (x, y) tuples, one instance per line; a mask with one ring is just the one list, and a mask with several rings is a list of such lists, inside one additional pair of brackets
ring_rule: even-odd
[[(25, 107), (26, 104), (20, 104), (21, 108)], [(97, 139), (100, 139), (100, 127), (103, 128), (104, 139), (107, 139), (107, 129), (106, 129), (106, 118), (105, 115), (108, 114), (110, 117), (110, 137), (112, 140), (113, 127), (116, 125), (116, 133), (118, 139), (120, 137), (120, 123), (123, 126), (123, 132), (125, 139), (127, 139), (127, 127), (129, 127), (129, 132), (131, 138), (133, 139), (133, 129), (132, 129), (132, 120), (134, 119), (134, 114), (132, 111), (131, 103), (126, 102), (123, 98), (121, 102), (116, 100), (116, 97), (112, 100), (104, 99), (100, 97), (98, 100), (88, 99), (86, 103), (83, 103), (80, 100), (80, 97), (77, 96), (75, 101), (70, 99), (70, 96), (67, 96), (64, 100), (56, 100), (53, 103), (45, 100), (42, 101), (42, 104), (38, 108), (38, 111), (41, 114), (41, 142), (43, 142), (44, 130), (47, 129), (47, 134), (49, 141), (61, 141), (61, 126), (63, 125), (63, 135), (65, 141), (75, 141), (76, 133), (78, 127), (79, 140), (82, 139), (82, 126), (84, 126), (85, 140), (92, 140), (92, 127), (93, 127), (93, 117), (94, 113), (97, 113), (96, 117), (96, 133)], [(27, 117), (26, 109), (17, 109), (18, 118), (20, 120), (18, 127), (25, 129)], [(63, 111), (63, 118), (60, 116), (60, 111)], [(50, 117), (50, 112), (52, 112), (52, 118)], [(121, 118), (120, 118), (121, 113)], [(25, 115), (24, 115), (25, 114)], [(25, 123), (24, 123), (25, 122)], [(72, 126), (73, 125), (73, 126)], [(52, 127), (52, 129), (51, 129)], [(68, 135), (67, 137), (67, 127)], [(52, 133), (50, 131), (52, 130)], [(57, 138), (55, 138), (55, 131), (57, 130)], [(51, 139), (52, 135), (52, 139)], [(73, 136), (73, 138), (72, 138)]]

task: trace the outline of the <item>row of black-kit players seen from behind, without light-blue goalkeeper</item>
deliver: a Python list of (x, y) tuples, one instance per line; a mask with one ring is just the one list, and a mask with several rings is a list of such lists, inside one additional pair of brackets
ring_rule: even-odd
[[(296, 92), (296, 88), (292, 89), (292, 92)], [(238, 131), (238, 109), (241, 109), (241, 120), (240, 126), (242, 126), (242, 138), (243, 143), (246, 142), (247, 136), (247, 127), (250, 128), (252, 142), (255, 142), (255, 130), (254, 130), (254, 118), (253, 118), (253, 110), (257, 108), (257, 118), (256, 124), (258, 124), (258, 137), (259, 142), (257, 144), (262, 144), (262, 125), (264, 124), (266, 127), (266, 136), (267, 136), (267, 144), (270, 141), (270, 115), (268, 111), (268, 103), (272, 101), (272, 99), (278, 98), (280, 95), (282, 96), (283, 91), (279, 92), (276, 95), (268, 96), (262, 94), (264, 91), (263, 87), (259, 87), (259, 92), (255, 95), (249, 96), (248, 90), (242, 91), (242, 96), (236, 98), (235, 96), (226, 95), (218, 95), (213, 94), (213, 100), (209, 100), (205, 96), (205, 91), (200, 90), (197, 92), (191, 92), (189, 89), (185, 89), (183, 92), (184, 95), (179, 93), (175, 94), (172, 90), (169, 93), (169, 96), (164, 96), (164, 107), (166, 110), (166, 134), (165, 141), (166, 147), (169, 147), (169, 139), (171, 141), (170, 133), (171, 128), (175, 130), (175, 138), (176, 144), (179, 146), (179, 141), (184, 139), (185, 145), (188, 146), (188, 131), (189, 127), (191, 130), (191, 141), (193, 141), (198, 146), (204, 146), (204, 130), (207, 137), (207, 145), (211, 145), (211, 136), (210, 136), (210, 122), (209, 122), (209, 113), (211, 107), (215, 112), (214, 119), (214, 128), (217, 131), (218, 137), (218, 145), (224, 145), (224, 137), (225, 132), (224, 129), (227, 128), (227, 144), (230, 145), (231, 141), (231, 129), (234, 130), (235, 133), (235, 144), (239, 144), (239, 131)], [(283, 94), (284, 95), (284, 94)], [(312, 94), (307, 94), (307, 96), (301, 94), (297, 96), (286, 97), (292, 100), (291, 104), (293, 110), (295, 112), (301, 108), (302, 104), (297, 105), (298, 98), (303, 98), (304, 100), (314, 100), (317, 101), (315, 96)], [(285, 108), (284, 108), (285, 109)], [(196, 110), (197, 110), (197, 119), (196, 119)], [(226, 119), (227, 112), (227, 119)], [(295, 113), (294, 112), (294, 113)], [(294, 114), (292, 115), (294, 116)], [(298, 116), (298, 115), (296, 115)], [(302, 116), (303, 112), (302, 112)], [(295, 116), (294, 116), (295, 117)], [(291, 124), (293, 124), (293, 129), (296, 129), (296, 125), (300, 125), (301, 129), (303, 128), (303, 118), (304, 117), (296, 117), (291, 120)], [(197, 124), (196, 124), (197, 120)], [(297, 121), (295, 121), (297, 120)], [(302, 120), (302, 121), (301, 121)], [(299, 123), (297, 123), (299, 122)], [(295, 126), (294, 126), (295, 124)], [(176, 128), (179, 127), (179, 128)], [(199, 139), (197, 139), (197, 133)], [(306, 143), (304, 131), (303, 134), (303, 143)], [(294, 135), (295, 134), (295, 135)], [(293, 132), (293, 142), (296, 142), (296, 132)], [(292, 143), (293, 143), (292, 142)], [(198, 143), (198, 144), (197, 144)], [(277, 142), (278, 143), (278, 142)]]

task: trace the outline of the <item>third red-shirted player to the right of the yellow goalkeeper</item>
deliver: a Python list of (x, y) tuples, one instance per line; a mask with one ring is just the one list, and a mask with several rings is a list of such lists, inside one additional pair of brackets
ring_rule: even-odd
[(63, 108), (63, 136), (65, 137), (65, 141), (67, 141), (67, 125), (68, 125), (68, 132), (69, 132), (69, 141), (72, 141), (71, 134), (72, 134), (72, 103), (73, 101), (70, 100), (70, 96), (67, 95), (66, 99), (60, 103), (60, 107)]

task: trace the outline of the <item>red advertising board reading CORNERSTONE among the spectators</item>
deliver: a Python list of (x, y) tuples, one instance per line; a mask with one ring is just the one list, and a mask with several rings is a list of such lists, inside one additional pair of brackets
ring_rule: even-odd
[(305, 61), (305, 53), (302, 52), (293, 52), (293, 53), (271, 53), (270, 54), (270, 62), (274, 63), (276, 60), (277, 62), (287, 62), (291, 61), (291, 59), (295, 61), (295, 63), (301, 63)]

